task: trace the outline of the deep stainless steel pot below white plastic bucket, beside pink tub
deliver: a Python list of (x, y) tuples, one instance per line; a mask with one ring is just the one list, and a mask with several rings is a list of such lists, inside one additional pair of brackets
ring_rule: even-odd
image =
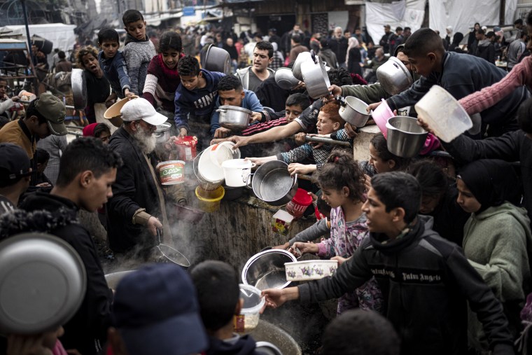
[(408, 116), (390, 118), (386, 129), (388, 151), (402, 158), (414, 158), (423, 148), (428, 135), (428, 132), (417, 124), (416, 118)]

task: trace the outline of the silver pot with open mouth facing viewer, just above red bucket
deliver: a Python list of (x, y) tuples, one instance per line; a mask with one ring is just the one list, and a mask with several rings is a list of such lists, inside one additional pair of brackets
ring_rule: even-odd
[(260, 200), (272, 206), (282, 206), (295, 196), (297, 174), (290, 176), (286, 162), (272, 160), (258, 167), (253, 174), (251, 187)]

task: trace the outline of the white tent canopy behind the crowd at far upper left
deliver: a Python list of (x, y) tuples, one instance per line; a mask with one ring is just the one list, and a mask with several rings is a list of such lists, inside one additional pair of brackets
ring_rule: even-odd
[[(48, 39), (53, 43), (53, 48), (59, 48), (67, 53), (68, 50), (73, 48), (76, 42), (76, 34), (74, 29), (76, 25), (65, 25), (64, 23), (46, 23), (43, 25), (29, 25), (29, 36), (36, 34), (37, 36)], [(17, 39), (26, 39), (26, 27), (25, 25), (10, 25), (0, 27), (0, 33), (10, 32), (10, 34), (22, 34), (22, 37)], [(67, 53), (68, 55), (68, 53)], [(52, 55), (48, 55), (48, 63), (51, 64)]]

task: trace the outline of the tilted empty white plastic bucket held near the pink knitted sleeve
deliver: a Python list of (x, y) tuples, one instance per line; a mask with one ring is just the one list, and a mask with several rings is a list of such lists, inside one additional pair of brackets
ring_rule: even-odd
[(473, 123), (458, 101), (441, 86), (433, 85), (415, 106), (436, 136), (449, 143), (469, 130)]

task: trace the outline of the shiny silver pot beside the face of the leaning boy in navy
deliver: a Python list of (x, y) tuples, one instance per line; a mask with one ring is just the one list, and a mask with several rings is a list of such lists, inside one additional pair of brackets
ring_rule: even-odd
[(414, 79), (405, 64), (396, 57), (390, 57), (377, 69), (377, 81), (390, 95), (397, 95), (407, 90)]

